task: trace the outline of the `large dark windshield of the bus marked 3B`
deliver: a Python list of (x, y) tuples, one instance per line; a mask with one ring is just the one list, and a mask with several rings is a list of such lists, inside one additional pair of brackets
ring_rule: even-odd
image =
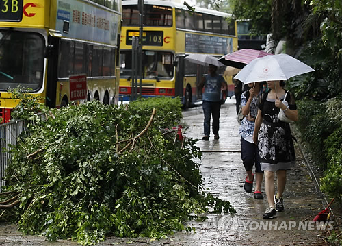
[(44, 38), (31, 32), (0, 30), (0, 90), (42, 85)]

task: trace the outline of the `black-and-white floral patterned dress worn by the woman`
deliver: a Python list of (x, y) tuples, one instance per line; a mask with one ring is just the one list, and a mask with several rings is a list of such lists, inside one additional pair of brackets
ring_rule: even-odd
[[(263, 123), (259, 130), (259, 154), (261, 169), (264, 171), (289, 170), (295, 164), (295, 149), (289, 123), (278, 119), (279, 108), (274, 99), (267, 98), (268, 93), (259, 97), (259, 109), (262, 112)], [(284, 98), (280, 98), (284, 100)], [(289, 109), (296, 110), (295, 98), (287, 93), (286, 101)]]

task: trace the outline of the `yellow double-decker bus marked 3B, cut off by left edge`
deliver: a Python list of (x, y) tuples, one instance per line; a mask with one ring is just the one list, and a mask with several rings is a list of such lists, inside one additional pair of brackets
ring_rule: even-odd
[(121, 0), (0, 1), (0, 116), (21, 86), (60, 107), (118, 95)]

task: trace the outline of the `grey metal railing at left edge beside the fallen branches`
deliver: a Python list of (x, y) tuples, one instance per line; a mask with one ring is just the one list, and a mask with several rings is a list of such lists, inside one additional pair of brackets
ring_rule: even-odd
[(1, 186), (5, 184), (5, 169), (10, 162), (11, 154), (9, 150), (12, 145), (16, 145), (18, 136), (25, 130), (24, 121), (10, 121), (0, 125), (0, 192)]

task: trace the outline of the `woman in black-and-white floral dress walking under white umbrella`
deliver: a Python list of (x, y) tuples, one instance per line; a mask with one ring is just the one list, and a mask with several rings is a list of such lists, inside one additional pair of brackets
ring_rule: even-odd
[[(280, 81), (269, 81), (269, 92), (259, 97), (259, 110), (255, 120), (253, 140), (259, 147), (261, 169), (264, 171), (265, 191), (269, 208), (263, 214), (264, 219), (276, 217), (276, 211), (284, 210), (282, 193), (285, 190), (287, 170), (295, 164), (295, 150), (289, 123), (278, 119), (279, 110), (287, 118), (297, 121), (298, 112), (295, 97), (280, 86)], [(287, 95), (286, 99), (284, 98)], [(287, 101), (282, 103), (282, 101)], [(274, 173), (277, 176), (277, 194), (275, 194)]]

